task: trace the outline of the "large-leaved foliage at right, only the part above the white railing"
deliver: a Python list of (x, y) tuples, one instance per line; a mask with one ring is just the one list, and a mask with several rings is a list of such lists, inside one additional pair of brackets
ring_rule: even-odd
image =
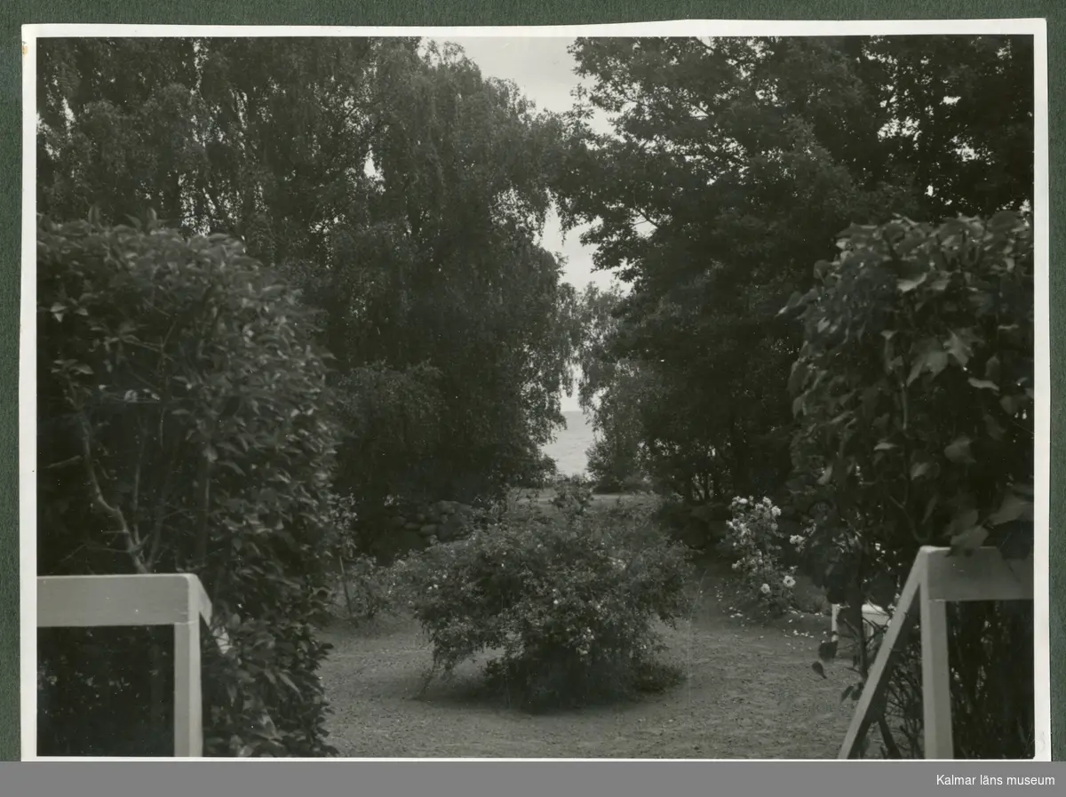
[(921, 544), (1028, 553), (1028, 222), (900, 219), (844, 241), (819, 264), (821, 286), (795, 298), (806, 339), (792, 372), (797, 465), (818, 470), (813, 486), (854, 508), (856, 525), (878, 528), (901, 566)]

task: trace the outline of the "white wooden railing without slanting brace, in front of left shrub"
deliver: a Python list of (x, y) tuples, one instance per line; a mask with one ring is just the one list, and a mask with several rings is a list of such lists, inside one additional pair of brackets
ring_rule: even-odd
[[(174, 754), (204, 751), (200, 620), (211, 627), (211, 601), (185, 573), (62, 575), (37, 579), (38, 628), (174, 627)], [(225, 638), (219, 639), (223, 649)]]

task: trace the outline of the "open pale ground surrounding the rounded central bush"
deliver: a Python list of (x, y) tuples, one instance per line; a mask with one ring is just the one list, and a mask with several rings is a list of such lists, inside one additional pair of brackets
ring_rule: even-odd
[[(731, 573), (701, 566), (701, 598), (664, 658), (684, 681), (641, 701), (531, 715), (489, 698), (480, 665), (424, 693), (430, 648), (407, 617), (337, 621), (322, 669), (330, 743), (352, 758), (831, 759), (851, 719), (842, 664), (811, 669), (828, 618), (763, 625), (733, 607)], [(694, 590), (695, 591), (695, 590)]]

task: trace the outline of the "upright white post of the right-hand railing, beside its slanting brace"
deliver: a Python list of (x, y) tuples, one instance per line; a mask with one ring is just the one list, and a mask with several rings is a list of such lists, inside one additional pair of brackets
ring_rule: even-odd
[[(930, 553), (918, 554), (928, 560)], [(951, 725), (951, 665), (948, 661), (948, 604), (933, 597), (931, 570), (922, 569), (918, 590), (922, 633), (922, 728), (926, 759), (953, 759), (955, 744)]]

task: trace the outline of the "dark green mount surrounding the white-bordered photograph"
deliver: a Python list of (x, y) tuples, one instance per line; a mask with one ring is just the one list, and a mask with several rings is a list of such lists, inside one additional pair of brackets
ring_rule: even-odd
[[(1051, 218), (1061, 215), (1063, 197), (1063, 121), (1066, 97), (1066, 12), (1054, 0), (540, 0), (539, 3), (499, 0), (374, 0), (373, 2), (302, 3), (294, 11), (286, 0), (39, 0), (3, 4), (5, 47), (0, 59), (0, 313), (6, 334), (0, 335), (0, 440), (9, 452), (0, 459), (0, 760), (13, 761), (19, 752), (19, 648), (18, 648), (18, 327), (21, 196), (21, 59), (20, 27), (30, 23), (142, 23), (142, 25), (328, 25), (328, 26), (547, 26), (642, 22), (668, 19), (991, 19), (1046, 18), (1048, 20), (1049, 134), (1051, 162)], [(31, 176), (32, 179), (32, 176)], [(1064, 234), (1051, 229), (1051, 262), (1062, 256)], [(1066, 280), (1051, 270), (1051, 381), (1052, 429), (1066, 421), (1056, 401), (1066, 380), (1066, 369), (1055, 355), (1066, 343), (1066, 322), (1057, 305), (1066, 303)], [(1066, 441), (1053, 437), (1052, 474), (1066, 453)], [(1051, 492), (1051, 694), (1053, 758), (1066, 759), (1066, 539), (1057, 533), (1057, 519), (1066, 489), (1052, 479)]]

